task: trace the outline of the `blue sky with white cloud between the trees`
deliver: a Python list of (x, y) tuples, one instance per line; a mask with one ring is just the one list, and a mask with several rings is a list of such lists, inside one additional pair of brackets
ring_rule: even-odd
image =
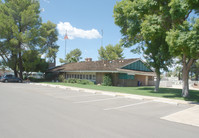
[[(60, 64), (59, 58), (64, 58), (65, 30), (69, 37), (66, 53), (79, 48), (82, 51), (82, 60), (87, 57), (98, 60), (102, 29), (103, 46), (119, 43), (120, 28), (114, 24), (113, 18), (116, 1), (118, 0), (40, 0), (43, 22), (52, 21), (57, 24), (59, 31), (57, 65)], [(130, 50), (131, 48), (124, 50), (125, 58), (140, 57)]]

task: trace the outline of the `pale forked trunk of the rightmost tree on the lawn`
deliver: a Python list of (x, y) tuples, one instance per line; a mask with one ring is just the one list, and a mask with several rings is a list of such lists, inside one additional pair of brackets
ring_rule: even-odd
[(189, 96), (189, 70), (195, 59), (187, 61), (186, 56), (183, 55), (183, 70), (182, 70), (182, 97)]

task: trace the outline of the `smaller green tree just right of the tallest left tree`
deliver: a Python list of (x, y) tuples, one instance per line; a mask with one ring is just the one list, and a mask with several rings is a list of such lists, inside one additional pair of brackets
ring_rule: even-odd
[(50, 63), (56, 62), (57, 52), (59, 46), (56, 44), (58, 40), (58, 31), (56, 29), (56, 24), (48, 21), (47, 23), (42, 23), (40, 28), (41, 37), (41, 49), (42, 53), (46, 54), (46, 58)]

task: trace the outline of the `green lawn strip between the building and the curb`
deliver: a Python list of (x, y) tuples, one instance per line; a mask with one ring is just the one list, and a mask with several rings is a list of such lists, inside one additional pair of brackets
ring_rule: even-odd
[(186, 101), (195, 101), (199, 102), (199, 90), (190, 90), (189, 97), (181, 97), (181, 89), (172, 89), (172, 88), (160, 88), (159, 92), (154, 92), (154, 87), (145, 86), (145, 87), (116, 87), (116, 86), (98, 86), (98, 85), (82, 85), (82, 84), (72, 84), (72, 83), (55, 83), (55, 82), (44, 82), (54, 85), (63, 85), (71, 87), (79, 87), (86, 89), (102, 90), (102, 91), (111, 91), (111, 92), (121, 92), (128, 94), (137, 94), (145, 96), (154, 96), (154, 97), (163, 97), (171, 99), (179, 99)]

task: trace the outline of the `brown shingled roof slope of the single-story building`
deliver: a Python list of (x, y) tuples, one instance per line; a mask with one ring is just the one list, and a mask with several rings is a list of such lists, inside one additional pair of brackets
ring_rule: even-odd
[(62, 66), (57, 66), (49, 72), (67, 72), (67, 71), (117, 71), (117, 68), (121, 68), (127, 64), (130, 64), (138, 58), (134, 59), (121, 59), (121, 60), (101, 60), (101, 61), (89, 61), (68, 63)]

